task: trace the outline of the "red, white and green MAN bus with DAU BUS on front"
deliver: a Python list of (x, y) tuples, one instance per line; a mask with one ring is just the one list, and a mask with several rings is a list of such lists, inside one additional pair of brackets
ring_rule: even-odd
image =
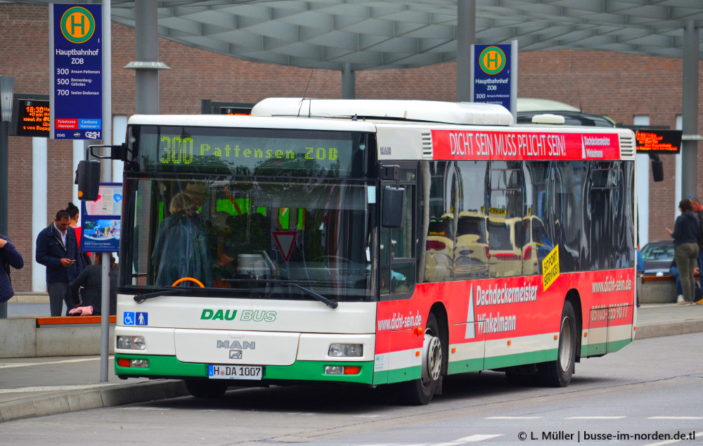
[(567, 386), (634, 337), (627, 129), (270, 98), (248, 117), (137, 115), (127, 140), (122, 378), (200, 397), (398, 383), (427, 404), (484, 369)]

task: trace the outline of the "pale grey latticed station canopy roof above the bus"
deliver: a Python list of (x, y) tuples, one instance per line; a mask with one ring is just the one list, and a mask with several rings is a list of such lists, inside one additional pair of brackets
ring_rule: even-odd
[[(158, 34), (259, 63), (412, 68), (456, 60), (457, 3), (162, 0)], [(134, 5), (135, 0), (112, 0), (112, 21), (134, 27)], [(703, 27), (703, 0), (476, 0), (476, 43), (517, 39), (520, 51), (569, 48), (681, 58), (687, 22)]]

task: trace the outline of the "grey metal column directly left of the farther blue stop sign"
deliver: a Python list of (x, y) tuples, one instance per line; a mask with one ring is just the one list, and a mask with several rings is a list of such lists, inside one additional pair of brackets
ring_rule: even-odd
[(471, 102), (471, 46), (476, 43), (476, 0), (456, 4), (456, 100)]

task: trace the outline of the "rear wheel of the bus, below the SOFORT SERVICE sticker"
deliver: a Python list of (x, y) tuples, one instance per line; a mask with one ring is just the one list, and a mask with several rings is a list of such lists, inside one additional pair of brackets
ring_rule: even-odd
[(559, 330), (557, 360), (537, 365), (537, 376), (544, 386), (566, 387), (574, 374), (576, 360), (576, 313), (574, 306), (565, 301)]

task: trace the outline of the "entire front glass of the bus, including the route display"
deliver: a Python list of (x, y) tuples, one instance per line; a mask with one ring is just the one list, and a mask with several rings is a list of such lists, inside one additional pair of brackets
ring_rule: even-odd
[[(131, 126), (124, 291), (371, 300), (363, 133)], [(374, 199), (369, 197), (373, 196)], [(124, 244), (124, 242), (123, 242)], [(202, 287), (201, 287), (202, 285)]]

